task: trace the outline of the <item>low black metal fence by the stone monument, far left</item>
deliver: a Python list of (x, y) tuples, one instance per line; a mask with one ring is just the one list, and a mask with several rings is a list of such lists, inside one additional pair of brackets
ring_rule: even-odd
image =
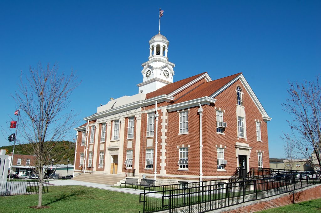
[[(42, 193), (48, 193), (48, 181), (45, 181)], [(13, 180), (0, 182), (0, 196), (23, 195), (39, 193), (39, 181)]]

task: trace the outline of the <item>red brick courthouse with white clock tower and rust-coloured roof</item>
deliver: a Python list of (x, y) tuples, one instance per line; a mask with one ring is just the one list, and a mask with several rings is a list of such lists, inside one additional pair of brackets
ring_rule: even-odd
[(111, 98), (77, 131), (75, 170), (157, 181), (228, 178), (269, 167), (267, 115), (242, 73), (206, 73), (173, 82), (166, 37), (149, 41), (138, 94)]

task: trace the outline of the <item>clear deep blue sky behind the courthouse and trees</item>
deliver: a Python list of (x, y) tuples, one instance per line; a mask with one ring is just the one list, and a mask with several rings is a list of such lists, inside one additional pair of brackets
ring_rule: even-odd
[(0, 125), (9, 126), (18, 107), (10, 94), (21, 70), (39, 61), (77, 71), (82, 83), (71, 108), (79, 119), (110, 97), (138, 93), (159, 8), (174, 81), (204, 71), (212, 79), (243, 72), (272, 117), (270, 157), (283, 157), (288, 81), (313, 80), (321, 71), (321, 1), (1, 1)]

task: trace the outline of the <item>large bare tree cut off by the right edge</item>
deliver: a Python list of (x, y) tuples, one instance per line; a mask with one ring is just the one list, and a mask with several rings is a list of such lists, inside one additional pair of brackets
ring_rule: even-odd
[[(282, 107), (292, 116), (287, 120), (291, 132), (282, 138), (293, 146), (294, 152), (308, 159), (313, 168), (321, 168), (321, 87), (318, 78), (289, 84), (289, 98)], [(316, 156), (315, 160), (312, 155)]]

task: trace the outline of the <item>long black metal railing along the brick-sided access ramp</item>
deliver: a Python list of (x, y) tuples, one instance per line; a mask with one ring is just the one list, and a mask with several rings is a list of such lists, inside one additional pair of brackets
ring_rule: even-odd
[[(253, 169), (264, 172), (262, 168)], [(269, 173), (271, 171), (265, 171)], [(169, 212), (201, 213), (264, 199), (321, 183), (317, 174), (280, 171), (280, 173), (221, 179), (204, 182), (145, 187), (140, 193), (143, 213)]]

